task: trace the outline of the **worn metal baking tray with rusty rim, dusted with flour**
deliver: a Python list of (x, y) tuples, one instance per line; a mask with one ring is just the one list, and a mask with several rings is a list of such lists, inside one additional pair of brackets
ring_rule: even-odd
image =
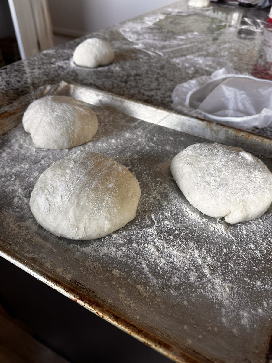
[[(45, 94), (88, 102), (99, 120), (95, 138), (68, 150), (34, 147), (20, 121)], [(271, 139), (65, 82), (2, 110), (0, 129), (1, 256), (176, 362), (272, 358), (272, 209), (234, 225), (207, 217), (169, 168), (190, 144), (215, 141), (267, 156), (272, 170)], [(141, 199), (125, 227), (71, 241), (36, 223), (29, 197), (47, 167), (82, 150), (121, 162)]]

